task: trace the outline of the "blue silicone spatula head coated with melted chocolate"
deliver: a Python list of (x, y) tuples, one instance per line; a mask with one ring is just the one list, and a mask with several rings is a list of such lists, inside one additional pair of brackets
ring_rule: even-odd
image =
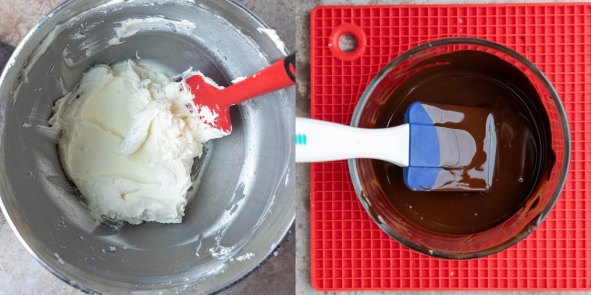
[(415, 102), (404, 182), (418, 191), (486, 191), (496, 158), (493, 116), (480, 107)]

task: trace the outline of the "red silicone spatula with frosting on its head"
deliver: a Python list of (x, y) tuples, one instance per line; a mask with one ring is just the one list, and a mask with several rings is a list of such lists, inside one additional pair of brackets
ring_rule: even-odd
[[(242, 81), (236, 82), (225, 89), (217, 89), (207, 83), (202, 76), (187, 78), (187, 84), (194, 96), (194, 103), (199, 114), (208, 108), (212, 116), (201, 116), (200, 119), (224, 133), (232, 131), (230, 122), (230, 106), (252, 99), (271, 91), (292, 86), (296, 83), (296, 54), (293, 53), (269, 67), (258, 71)], [(215, 116), (217, 114), (217, 117)]]

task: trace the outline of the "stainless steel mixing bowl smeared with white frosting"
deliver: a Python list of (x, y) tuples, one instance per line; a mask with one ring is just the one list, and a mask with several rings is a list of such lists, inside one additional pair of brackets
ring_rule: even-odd
[[(173, 21), (112, 42), (119, 22), (147, 17)], [(183, 19), (194, 27), (175, 27)], [(232, 134), (194, 165), (182, 224), (95, 222), (47, 129), (54, 101), (94, 64), (141, 57), (224, 86), (248, 76), (286, 54), (257, 28), (233, 2), (80, 0), (27, 35), (0, 78), (0, 205), (41, 264), (85, 291), (207, 293), (274, 251), (295, 217), (293, 87), (232, 108)]]

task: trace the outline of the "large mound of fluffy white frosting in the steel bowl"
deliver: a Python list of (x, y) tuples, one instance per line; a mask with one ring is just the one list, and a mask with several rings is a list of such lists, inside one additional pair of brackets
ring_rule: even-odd
[(186, 81), (163, 72), (131, 60), (97, 65), (53, 108), (64, 171), (98, 220), (181, 222), (193, 159), (226, 135), (191, 113)]

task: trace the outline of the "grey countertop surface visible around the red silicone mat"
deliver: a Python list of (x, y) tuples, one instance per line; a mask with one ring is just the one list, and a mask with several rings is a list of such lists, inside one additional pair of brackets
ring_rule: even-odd
[[(458, 4), (458, 3), (498, 3), (498, 2), (567, 2), (551, 0), (300, 0), (296, 8), (297, 19), (297, 88), (296, 116), (310, 116), (310, 11), (319, 5), (374, 5), (374, 4)], [(575, 1), (569, 1), (575, 2)], [(310, 278), (310, 165), (297, 164), (297, 204), (296, 204), (296, 293), (325, 295), (378, 295), (378, 294), (472, 294), (472, 291), (351, 291), (351, 292), (319, 292), (311, 286)], [(538, 292), (498, 292), (481, 291), (482, 295), (527, 295)], [(564, 292), (545, 292), (543, 294), (564, 294)], [(590, 294), (589, 292), (569, 292), (569, 295)]]

